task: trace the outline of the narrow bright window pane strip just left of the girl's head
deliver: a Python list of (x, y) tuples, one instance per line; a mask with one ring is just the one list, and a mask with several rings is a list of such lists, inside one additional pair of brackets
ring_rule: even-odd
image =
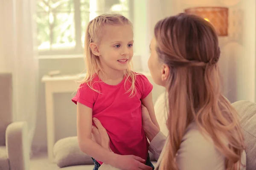
[(90, 15), (90, 0), (80, 0), (81, 1), (81, 42), (84, 47), (84, 37), (87, 24), (89, 23), (89, 15)]

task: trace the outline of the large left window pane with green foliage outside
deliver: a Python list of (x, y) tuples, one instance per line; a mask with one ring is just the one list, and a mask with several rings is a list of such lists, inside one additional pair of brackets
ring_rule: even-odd
[(38, 49), (75, 46), (73, 0), (38, 0)]

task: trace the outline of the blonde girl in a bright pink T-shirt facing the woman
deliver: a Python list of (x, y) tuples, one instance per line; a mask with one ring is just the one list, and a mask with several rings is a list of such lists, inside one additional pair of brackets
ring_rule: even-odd
[[(79, 147), (97, 160), (93, 159), (94, 170), (102, 162), (122, 170), (131, 170), (134, 166), (148, 168), (145, 163), (153, 167), (149, 161), (140, 107), (141, 103), (147, 107), (159, 128), (152, 102), (153, 86), (144, 75), (130, 70), (133, 43), (132, 24), (122, 15), (103, 14), (87, 26), (86, 77), (72, 101), (77, 104)], [(92, 141), (93, 117), (98, 118), (108, 131), (113, 153)], [(125, 158), (133, 163), (127, 163)]]

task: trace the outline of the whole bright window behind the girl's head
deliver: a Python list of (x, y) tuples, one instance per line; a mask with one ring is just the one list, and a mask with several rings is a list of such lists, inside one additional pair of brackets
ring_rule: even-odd
[(39, 55), (83, 54), (87, 23), (103, 13), (133, 20), (133, 0), (37, 0)]

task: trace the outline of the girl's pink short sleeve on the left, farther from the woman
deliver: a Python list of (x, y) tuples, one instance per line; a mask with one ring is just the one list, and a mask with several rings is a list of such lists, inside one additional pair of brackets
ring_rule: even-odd
[(77, 102), (86, 105), (89, 108), (93, 108), (96, 100), (96, 91), (93, 91), (86, 83), (79, 85), (76, 96), (73, 97), (72, 102)]

